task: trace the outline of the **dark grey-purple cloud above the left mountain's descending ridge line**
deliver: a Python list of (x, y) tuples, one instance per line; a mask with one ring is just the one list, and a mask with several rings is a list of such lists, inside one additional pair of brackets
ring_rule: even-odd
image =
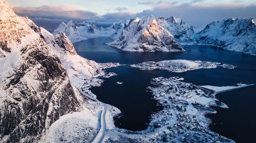
[(52, 32), (61, 21), (97, 20), (98, 14), (91, 11), (82, 11), (69, 6), (42, 6), (42, 7), (13, 7), (19, 16), (28, 16), (37, 25)]

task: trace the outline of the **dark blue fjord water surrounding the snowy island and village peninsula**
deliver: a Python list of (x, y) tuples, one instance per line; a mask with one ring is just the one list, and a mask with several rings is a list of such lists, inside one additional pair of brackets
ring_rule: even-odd
[[(123, 116), (115, 119), (115, 125), (128, 130), (143, 130), (150, 122), (153, 112), (161, 109), (152, 99), (152, 94), (146, 92), (150, 80), (154, 77), (182, 76), (184, 82), (197, 85), (234, 85), (237, 82), (256, 83), (256, 56), (223, 50), (210, 46), (185, 46), (186, 52), (127, 52), (104, 45), (111, 42), (108, 38), (96, 38), (75, 43), (79, 55), (99, 63), (118, 62), (135, 64), (146, 61), (163, 61), (174, 59), (201, 60), (220, 62), (238, 66), (237, 69), (225, 68), (199, 69), (184, 73), (168, 73), (166, 71), (140, 71), (128, 66), (111, 68), (118, 76), (104, 79), (99, 88), (92, 88), (97, 98), (118, 107)], [(117, 84), (116, 82), (124, 82)], [(215, 108), (217, 113), (209, 115), (213, 123), (210, 126), (223, 136), (237, 142), (254, 140), (256, 128), (256, 87), (245, 88), (218, 94), (217, 98), (229, 106), (229, 109)]]

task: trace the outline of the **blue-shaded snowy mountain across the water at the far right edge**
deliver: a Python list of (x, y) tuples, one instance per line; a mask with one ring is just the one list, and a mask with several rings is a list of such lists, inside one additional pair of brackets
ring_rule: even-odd
[(196, 34), (200, 44), (256, 55), (256, 24), (253, 19), (229, 18), (211, 22)]

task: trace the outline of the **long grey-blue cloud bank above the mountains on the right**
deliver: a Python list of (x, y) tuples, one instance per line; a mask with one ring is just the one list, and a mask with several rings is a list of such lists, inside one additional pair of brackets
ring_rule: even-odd
[(179, 6), (162, 7), (157, 6), (152, 9), (144, 10), (138, 13), (138, 17), (154, 15), (156, 17), (179, 16), (184, 21), (194, 27), (205, 26), (206, 24), (227, 18), (253, 18), (255, 17), (256, 6), (249, 5), (195, 5), (186, 3)]

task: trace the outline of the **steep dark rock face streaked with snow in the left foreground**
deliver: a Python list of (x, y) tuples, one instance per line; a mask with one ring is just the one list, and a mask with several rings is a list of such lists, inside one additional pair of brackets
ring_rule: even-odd
[(60, 116), (82, 107), (37, 26), (8, 5), (0, 15), (0, 142), (36, 142)]

